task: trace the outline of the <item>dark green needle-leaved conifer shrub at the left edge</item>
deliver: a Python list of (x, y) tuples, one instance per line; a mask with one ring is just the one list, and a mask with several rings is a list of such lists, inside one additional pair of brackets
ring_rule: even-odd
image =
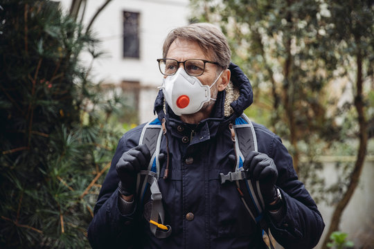
[(0, 248), (89, 248), (98, 179), (124, 131), (121, 98), (79, 60), (97, 44), (56, 2), (1, 2)]

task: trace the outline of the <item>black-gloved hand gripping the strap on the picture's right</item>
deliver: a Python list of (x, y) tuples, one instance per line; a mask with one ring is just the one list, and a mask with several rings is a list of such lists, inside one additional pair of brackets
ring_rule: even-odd
[(260, 181), (260, 190), (265, 204), (268, 205), (278, 199), (275, 186), (278, 170), (273, 159), (267, 154), (251, 151), (244, 159), (243, 168), (248, 169), (248, 178)]

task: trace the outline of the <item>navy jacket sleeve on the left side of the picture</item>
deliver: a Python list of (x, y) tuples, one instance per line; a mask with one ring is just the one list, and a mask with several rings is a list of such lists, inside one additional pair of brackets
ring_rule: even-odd
[(116, 154), (112, 159), (104, 183), (101, 187), (98, 201), (94, 208), (94, 219), (88, 228), (88, 239), (92, 248), (133, 248), (134, 243), (139, 241), (136, 237), (137, 208), (130, 214), (121, 214), (118, 208), (118, 176), (116, 163), (122, 154), (135, 147), (139, 142), (141, 129), (128, 131), (118, 142)]

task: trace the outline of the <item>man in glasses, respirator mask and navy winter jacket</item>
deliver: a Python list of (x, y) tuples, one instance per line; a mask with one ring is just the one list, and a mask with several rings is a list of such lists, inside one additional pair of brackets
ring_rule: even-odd
[[(151, 157), (148, 147), (139, 145), (142, 124), (118, 142), (89, 225), (93, 248), (266, 248), (235, 183), (221, 184), (218, 177), (233, 170), (230, 124), (253, 98), (249, 80), (230, 60), (226, 38), (211, 24), (169, 33), (158, 59), (163, 85), (154, 111), (166, 131), (157, 183), (172, 230), (168, 237), (155, 236), (134, 195), (136, 175)], [(253, 126), (258, 152), (244, 155), (243, 168), (260, 184), (263, 219), (283, 247), (312, 248), (323, 231), (321, 214), (297, 180), (281, 139)]]

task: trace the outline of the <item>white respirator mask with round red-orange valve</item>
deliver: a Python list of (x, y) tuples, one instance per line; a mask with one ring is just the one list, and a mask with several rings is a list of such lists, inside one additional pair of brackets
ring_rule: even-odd
[(211, 98), (211, 88), (220, 78), (223, 71), (211, 86), (203, 85), (195, 76), (190, 76), (183, 68), (179, 68), (175, 75), (163, 78), (159, 88), (172, 111), (177, 115), (193, 114), (202, 109), (203, 105), (215, 100)]

